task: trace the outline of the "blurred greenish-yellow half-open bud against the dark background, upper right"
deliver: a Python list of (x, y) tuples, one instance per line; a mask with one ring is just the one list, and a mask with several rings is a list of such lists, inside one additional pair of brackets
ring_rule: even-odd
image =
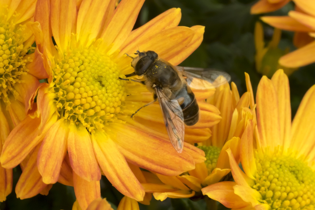
[(264, 31), (260, 22), (256, 22), (255, 25), (255, 64), (256, 70), (267, 77), (272, 75), (278, 70), (283, 69), (287, 75), (290, 75), (298, 68), (287, 68), (281, 66), (278, 62), (279, 58), (289, 53), (289, 48), (281, 50), (278, 48), (278, 44), (281, 38), (281, 30), (275, 28), (272, 35), (272, 40), (265, 46)]

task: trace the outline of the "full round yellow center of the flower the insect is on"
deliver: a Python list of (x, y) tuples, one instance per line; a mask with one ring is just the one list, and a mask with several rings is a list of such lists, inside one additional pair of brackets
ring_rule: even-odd
[(90, 132), (117, 120), (125, 100), (124, 81), (117, 64), (93, 47), (68, 50), (60, 56), (54, 71), (57, 113)]

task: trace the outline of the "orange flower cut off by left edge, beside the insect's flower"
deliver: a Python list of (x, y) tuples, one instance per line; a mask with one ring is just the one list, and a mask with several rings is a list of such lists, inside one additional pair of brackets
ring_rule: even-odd
[[(11, 130), (31, 105), (38, 79), (47, 78), (38, 50), (31, 45), (36, 0), (0, 2), (0, 154)], [(12, 191), (12, 169), (0, 166), (0, 202)]]

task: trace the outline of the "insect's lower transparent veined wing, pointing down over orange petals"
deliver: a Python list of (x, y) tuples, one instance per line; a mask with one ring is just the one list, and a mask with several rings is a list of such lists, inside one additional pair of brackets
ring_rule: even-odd
[(169, 100), (162, 89), (155, 88), (157, 98), (162, 109), (163, 119), (169, 139), (178, 153), (184, 146), (184, 115), (177, 100)]

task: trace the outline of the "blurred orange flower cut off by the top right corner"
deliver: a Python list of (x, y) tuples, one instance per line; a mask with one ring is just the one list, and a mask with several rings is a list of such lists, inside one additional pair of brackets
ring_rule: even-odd
[(279, 59), (282, 66), (297, 68), (314, 63), (315, 52), (315, 2), (294, 0), (295, 11), (290, 11), (288, 16), (265, 16), (261, 20), (273, 27), (294, 31), (294, 44), (298, 47)]

